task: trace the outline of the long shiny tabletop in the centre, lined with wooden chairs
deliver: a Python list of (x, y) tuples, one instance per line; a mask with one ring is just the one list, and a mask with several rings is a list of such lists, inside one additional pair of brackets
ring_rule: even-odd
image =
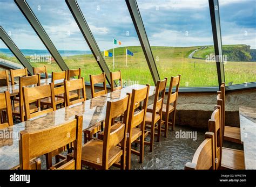
[[(134, 87), (122, 89), (120, 96), (126, 95), (123, 90), (131, 91), (132, 88)], [(143, 88), (143, 85), (141, 88)], [(154, 90), (154, 87), (152, 89)], [(96, 97), (0, 130), (0, 169), (12, 169), (19, 165), (19, 132), (23, 130), (36, 131), (57, 126), (74, 119), (76, 114), (83, 115), (83, 130), (86, 130), (105, 120), (107, 101), (114, 100), (118, 99)]]

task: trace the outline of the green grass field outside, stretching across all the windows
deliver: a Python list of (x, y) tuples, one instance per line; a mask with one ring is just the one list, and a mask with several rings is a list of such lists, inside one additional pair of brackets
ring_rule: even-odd
[[(124, 81), (130, 83), (153, 84), (150, 70), (139, 46), (127, 47), (133, 52), (134, 56), (127, 56), (127, 67), (125, 67), (126, 47), (114, 49), (115, 68), (113, 69), (113, 58), (105, 57), (110, 71), (121, 70)], [(181, 87), (210, 87), (218, 85), (218, 77), (215, 62), (206, 62), (199, 59), (188, 59), (195, 47), (151, 47), (160, 77), (176, 76), (181, 74)], [(112, 52), (112, 49), (109, 50)], [(204, 50), (199, 50), (194, 54), (195, 57), (205, 57), (206, 54), (214, 52), (212, 46)], [(14, 57), (9, 59), (14, 60)], [(89, 75), (99, 74), (101, 70), (93, 55), (77, 55), (65, 57), (64, 61), (70, 69), (82, 68), (82, 76), (89, 81)], [(31, 63), (32, 66), (38, 67), (46, 64), (49, 72), (59, 71), (56, 62)], [(256, 62), (227, 62), (225, 64), (226, 83), (240, 84), (245, 82), (256, 81)], [(169, 83), (168, 83), (169, 84)]]

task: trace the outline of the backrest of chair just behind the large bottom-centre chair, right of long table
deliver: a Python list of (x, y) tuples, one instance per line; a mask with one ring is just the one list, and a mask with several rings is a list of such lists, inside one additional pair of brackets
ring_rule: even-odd
[[(146, 110), (147, 110), (147, 101), (149, 99), (149, 90), (150, 85), (147, 84), (145, 88), (139, 90), (132, 90), (130, 94), (131, 98), (131, 106), (129, 112), (129, 120), (128, 120), (128, 134), (129, 138), (131, 138), (132, 128), (140, 125), (140, 130), (144, 132), (145, 127), (145, 118), (146, 118)], [(135, 112), (137, 103), (143, 102), (142, 110), (139, 112)]]

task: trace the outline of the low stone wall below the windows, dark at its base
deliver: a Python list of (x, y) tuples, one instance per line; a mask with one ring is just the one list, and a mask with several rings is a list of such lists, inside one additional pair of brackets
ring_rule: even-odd
[[(207, 129), (215, 93), (179, 93), (176, 124)], [(226, 92), (226, 125), (239, 127), (239, 106), (256, 107), (256, 89)]]

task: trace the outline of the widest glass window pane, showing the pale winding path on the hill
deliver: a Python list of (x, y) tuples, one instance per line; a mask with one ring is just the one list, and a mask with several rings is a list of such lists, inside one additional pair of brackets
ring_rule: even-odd
[[(207, 0), (137, 0), (161, 78), (181, 74), (181, 87), (218, 85)], [(169, 87), (169, 83), (167, 84)]]

